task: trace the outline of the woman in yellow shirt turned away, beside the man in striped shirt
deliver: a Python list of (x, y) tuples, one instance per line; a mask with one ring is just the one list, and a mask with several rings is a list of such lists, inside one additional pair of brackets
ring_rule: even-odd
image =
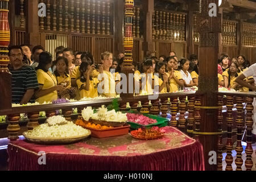
[(52, 65), (52, 55), (48, 52), (42, 52), (39, 55), (39, 65), (36, 68), (39, 89), (35, 92), (36, 102), (52, 102), (57, 100), (57, 92), (64, 90), (63, 85), (57, 85), (55, 76), (49, 72)]

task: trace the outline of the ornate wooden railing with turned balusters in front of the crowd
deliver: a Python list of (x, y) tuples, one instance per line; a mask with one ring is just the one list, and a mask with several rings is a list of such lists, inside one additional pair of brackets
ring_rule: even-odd
[[(253, 167), (252, 161), (252, 126), (253, 126), (253, 98), (256, 97), (255, 93), (230, 93), (230, 92), (218, 92), (218, 117), (216, 125), (218, 125), (217, 132), (217, 169), (222, 171), (232, 171), (236, 169), (241, 171), (242, 169), (251, 170)], [(134, 98), (118, 98), (120, 110), (126, 110), (127, 102), (130, 103), (131, 110), (137, 110), (141, 113), (150, 113), (154, 115), (161, 115), (162, 117), (170, 118), (169, 125), (177, 127), (189, 136), (200, 140), (201, 133), (201, 116), (204, 114), (204, 108), (201, 101), (203, 93), (196, 92), (182, 92), (182, 93), (167, 93), (159, 94), (157, 100), (151, 100), (149, 105), (148, 96), (137, 96)], [(225, 97), (224, 97), (225, 96)], [(186, 101), (186, 97), (188, 101)], [(101, 105), (112, 104), (113, 99), (104, 100), (92, 100), (92, 101), (79, 101), (69, 102), (65, 104), (51, 104), (51, 105), (36, 105), (36, 106), (23, 106), (14, 107), (13, 109), (0, 110), (0, 115), (7, 115), (9, 132), (8, 138), (10, 140), (18, 139), (18, 133), (20, 131), (19, 118), (20, 113), (27, 113), (28, 122), (27, 130), (33, 129), (39, 125), (39, 111), (46, 111), (46, 117), (55, 115), (55, 110), (62, 110), (62, 114), (69, 121), (71, 120), (72, 109), (74, 107), (78, 110), (78, 117), (81, 118), (81, 110), (87, 106), (100, 107)], [(139, 101), (142, 108), (138, 107)], [(246, 105), (245, 109), (244, 106)], [(226, 109), (226, 113), (224, 110)], [(244, 114), (243, 112), (246, 111)], [(223, 113), (224, 112), (224, 113)], [(171, 116), (169, 115), (171, 114)], [(223, 113), (223, 114), (222, 114)], [(226, 117), (225, 115), (226, 114)], [(226, 118), (226, 119), (225, 119)], [(245, 119), (244, 119), (245, 118)], [(235, 121), (235, 122), (234, 122)], [(227, 126), (227, 131), (224, 131), (224, 127)], [(232, 128), (236, 126), (235, 129)], [(246, 160), (242, 159), (242, 136), (246, 132)], [(224, 138), (225, 134), (226, 139)], [(236, 134), (236, 135), (233, 135)], [(236, 137), (236, 140), (233, 139)], [(234, 146), (236, 143), (236, 146)], [(209, 143), (214, 145), (214, 143)], [(225, 149), (224, 149), (225, 146)], [(232, 156), (232, 151), (236, 150), (236, 157)], [(226, 167), (222, 165), (222, 154), (226, 152)], [(207, 156), (205, 156), (207, 158)], [(235, 159), (236, 158), (236, 159)], [(235, 165), (234, 165), (235, 164)], [(245, 164), (245, 167), (243, 167)], [(234, 167), (236, 166), (236, 167)]]

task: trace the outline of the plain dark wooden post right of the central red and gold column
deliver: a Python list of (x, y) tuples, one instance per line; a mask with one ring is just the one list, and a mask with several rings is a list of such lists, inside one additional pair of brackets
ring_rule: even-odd
[(152, 14), (154, 12), (154, 0), (144, 0), (142, 6), (144, 20), (144, 42), (142, 43), (142, 50), (144, 51), (144, 56), (146, 56), (148, 51), (155, 51), (155, 46), (152, 42)]

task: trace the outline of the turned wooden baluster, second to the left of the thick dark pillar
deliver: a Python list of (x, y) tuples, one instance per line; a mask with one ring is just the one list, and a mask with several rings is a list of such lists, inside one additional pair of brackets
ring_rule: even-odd
[(193, 126), (195, 122), (194, 118), (194, 108), (195, 108), (195, 97), (189, 97), (188, 102), (188, 129), (187, 133), (190, 137), (193, 137)]

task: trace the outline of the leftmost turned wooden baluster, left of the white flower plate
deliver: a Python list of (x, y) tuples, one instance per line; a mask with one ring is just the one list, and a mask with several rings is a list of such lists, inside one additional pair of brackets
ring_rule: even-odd
[(18, 135), (20, 130), (19, 118), (20, 118), (20, 114), (8, 115), (9, 125), (7, 127), (7, 131), (8, 131), (8, 139), (10, 140), (19, 139), (19, 135)]

